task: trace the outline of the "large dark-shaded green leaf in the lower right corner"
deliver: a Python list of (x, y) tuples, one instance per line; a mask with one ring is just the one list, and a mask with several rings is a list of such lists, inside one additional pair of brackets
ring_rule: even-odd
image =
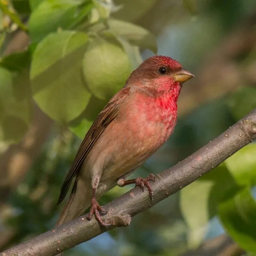
[(241, 248), (256, 253), (256, 202), (248, 188), (222, 202), (218, 214), (226, 232)]

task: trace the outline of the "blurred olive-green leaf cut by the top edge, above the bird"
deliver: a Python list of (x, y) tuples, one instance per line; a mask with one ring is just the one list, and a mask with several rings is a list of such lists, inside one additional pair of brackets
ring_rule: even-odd
[(126, 21), (135, 21), (149, 11), (157, 0), (115, 0), (120, 7), (112, 14), (113, 17)]

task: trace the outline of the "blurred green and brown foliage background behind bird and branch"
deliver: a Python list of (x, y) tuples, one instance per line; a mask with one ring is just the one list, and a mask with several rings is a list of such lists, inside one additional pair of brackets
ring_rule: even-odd
[[(81, 139), (153, 54), (195, 78), (174, 134), (134, 177), (175, 165), (256, 107), (255, 0), (0, 0), (0, 251), (55, 225)], [(129, 227), (65, 255), (256, 255), (255, 185), (252, 143)]]

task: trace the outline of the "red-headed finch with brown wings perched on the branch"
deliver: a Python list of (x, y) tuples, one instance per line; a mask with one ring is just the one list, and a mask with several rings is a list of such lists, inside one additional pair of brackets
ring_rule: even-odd
[(58, 205), (74, 179), (69, 200), (56, 226), (81, 216), (90, 207), (102, 226), (105, 210), (98, 203), (114, 186), (135, 184), (149, 190), (147, 178), (127, 179), (173, 133), (177, 122), (177, 99), (182, 85), (194, 77), (168, 56), (147, 58), (134, 70), (125, 86), (116, 93), (88, 130), (61, 187)]

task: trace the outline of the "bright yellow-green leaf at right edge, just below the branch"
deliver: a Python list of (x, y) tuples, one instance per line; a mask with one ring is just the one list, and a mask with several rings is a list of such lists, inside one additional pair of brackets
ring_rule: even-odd
[(225, 161), (235, 181), (243, 186), (256, 185), (256, 144), (249, 144)]

